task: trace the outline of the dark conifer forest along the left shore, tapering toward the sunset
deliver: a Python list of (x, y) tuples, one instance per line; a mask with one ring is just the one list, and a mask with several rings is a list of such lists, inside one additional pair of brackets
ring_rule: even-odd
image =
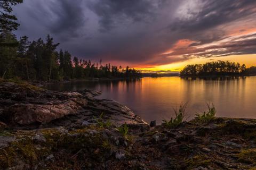
[(11, 15), (12, 6), (22, 3), (21, 0), (0, 2), (0, 76), (5, 79), (19, 77), (24, 80), (50, 81), (83, 78), (133, 78), (141, 77), (141, 71), (124, 69), (122, 66), (102, 65), (72, 57), (67, 50), (57, 51), (59, 43), (54, 43), (48, 35), (46, 40), (32, 42), (27, 36), (17, 40), (13, 30), (19, 24)]

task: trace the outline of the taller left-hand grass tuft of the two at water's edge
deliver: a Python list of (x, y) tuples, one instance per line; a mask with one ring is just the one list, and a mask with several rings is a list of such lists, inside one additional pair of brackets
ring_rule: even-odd
[(175, 118), (171, 117), (170, 121), (163, 120), (163, 125), (169, 129), (177, 128), (184, 121), (184, 118), (187, 114), (186, 107), (187, 107), (187, 103), (185, 104), (181, 103), (179, 109), (178, 107), (176, 107), (176, 109), (173, 108), (173, 111), (175, 113)]

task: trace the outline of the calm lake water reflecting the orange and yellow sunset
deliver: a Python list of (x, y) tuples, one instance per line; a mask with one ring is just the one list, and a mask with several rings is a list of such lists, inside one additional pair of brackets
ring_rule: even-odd
[(235, 79), (181, 79), (179, 77), (142, 78), (140, 80), (80, 81), (50, 84), (51, 90), (101, 90), (99, 98), (119, 101), (143, 120), (173, 116), (173, 107), (188, 102), (189, 119), (206, 110), (206, 102), (217, 107), (217, 116), (256, 118), (256, 77)]

